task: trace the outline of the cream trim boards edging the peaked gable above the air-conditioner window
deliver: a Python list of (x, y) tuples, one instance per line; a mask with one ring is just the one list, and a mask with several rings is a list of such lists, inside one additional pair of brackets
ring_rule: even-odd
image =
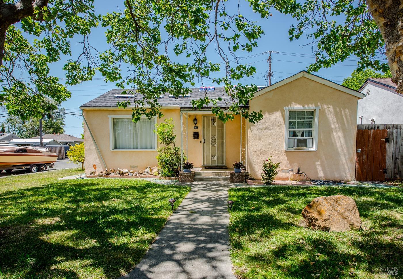
[(262, 95), (262, 94), (264, 94), (266, 92), (269, 92), (269, 91), (271, 91), (273, 89), (276, 89), (276, 88), (278, 88), (280, 86), (283, 86), (283, 85), (285, 85), (285, 84), (287, 84), (289, 82), (292, 82), (292, 81), (294, 81), (294, 80), (296, 80), (298, 78), (302, 78), (302, 77), (309, 78), (310, 80), (316, 81), (318, 83), (324, 84), (324, 85), (329, 86), (331, 88), (334, 88), (334, 89), (337, 89), (339, 91), (345, 92), (347, 94), (353, 95), (353, 96), (355, 96), (357, 98), (363, 98), (365, 96), (365, 94), (363, 94), (361, 92), (358, 92), (358, 91), (355, 91), (353, 89), (347, 88), (347, 87), (342, 86), (340, 84), (337, 84), (335, 82), (331, 82), (330, 80), (326, 80), (324, 78), (321, 78), (320, 76), (315, 76), (313, 74), (308, 74), (308, 72), (306, 72), (306, 71), (301, 71), (298, 74), (290, 76), (289, 78), (285, 78), (284, 80), (280, 80), (279, 82), (276, 82), (275, 84), (272, 84), (272, 85), (267, 86), (267, 87), (265, 87), (263, 89), (260, 89), (259, 91), (257, 91), (254, 94), (253, 98), (256, 98), (257, 96), (260, 96), (260, 95)]

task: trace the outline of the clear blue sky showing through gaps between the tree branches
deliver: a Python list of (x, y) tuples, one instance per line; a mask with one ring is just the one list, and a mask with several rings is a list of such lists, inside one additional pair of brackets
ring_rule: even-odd
[[(123, 0), (118, 1), (105, 1), (105, 0), (95, 0), (96, 12), (100, 14), (105, 14), (106, 12), (123, 10)], [(111, 4), (114, 3), (114, 4)], [(231, 2), (226, 2), (227, 6)], [(118, 6), (119, 4), (119, 6)], [(245, 12), (248, 9), (245, 9)], [(306, 70), (306, 67), (310, 63), (314, 62), (314, 56), (312, 55), (312, 46), (305, 45), (310, 41), (302, 39), (290, 41), (288, 37), (288, 29), (292, 23), (295, 23), (293, 18), (289, 15), (279, 14), (278, 12), (272, 12), (273, 16), (268, 19), (262, 20), (260, 16), (254, 15), (252, 12), (245, 14), (249, 19), (256, 18), (258, 24), (260, 24), (265, 32), (265, 35), (259, 39), (258, 47), (256, 47), (251, 53), (245, 51), (245, 53), (238, 53), (240, 57), (256, 55), (254, 57), (246, 58), (242, 63), (252, 63), (253, 66), (257, 68), (257, 74), (253, 78), (248, 78), (243, 80), (245, 83), (254, 83), (256, 85), (265, 85), (266, 79), (264, 78), (265, 72), (268, 70), (268, 63), (266, 62), (268, 58), (268, 53), (262, 54), (266, 51), (280, 51), (280, 53), (273, 53), (272, 55), (272, 70), (274, 71), (274, 78), (272, 83), (287, 78), (301, 70)], [(92, 45), (94, 45), (98, 51), (104, 51), (108, 49), (108, 45), (105, 41), (104, 36), (105, 29), (98, 27), (93, 30), (89, 40)], [(77, 57), (79, 54), (79, 47), (74, 46), (72, 49), (72, 56)], [(214, 57), (214, 53), (210, 53)], [(64, 78), (64, 72), (62, 71), (62, 66), (67, 59), (70, 57), (62, 57), (61, 61), (55, 63), (51, 66), (52, 75), (58, 76), (59, 78)], [(180, 61), (180, 59), (179, 59)], [(322, 69), (318, 73), (326, 79), (332, 80), (337, 83), (342, 83), (343, 79), (351, 74), (351, 72), (357, 68), (356, 64), (357, 58), (351, 57), (348, 61), (339, 63), (338, 65), (332, 66), (331, 68)], [(200, 82), (196, 82), (196, 87), (201, 85)], [(64, 101), (62, 106), (66, 111), (81, 113), (79, 110), (80, 105), (90, 101), (93, 98), (107, 92), (112, 88), (116, 88), (112, 83), (104, 82), (100, 73), (94, 77), (92, 81), (84, 82), (79, 85), (67, 86), (72, 93), (72, 97)], [(65, 131), (67, 134), (80, 136), (82, 133), (82, 118), (81, 116), (66, 115), (65, 119)]]

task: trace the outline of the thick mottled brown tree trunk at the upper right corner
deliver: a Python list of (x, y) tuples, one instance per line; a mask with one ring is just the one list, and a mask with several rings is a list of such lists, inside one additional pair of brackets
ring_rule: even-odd
[(403, 94), (403, 0), (367, 0), (367, 4), (385, 41), (396, 92)]

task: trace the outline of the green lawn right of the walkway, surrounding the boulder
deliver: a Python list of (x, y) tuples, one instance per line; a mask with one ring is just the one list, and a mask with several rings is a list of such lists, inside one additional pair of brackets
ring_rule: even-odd
[[(319, 196), (347, 195), (366, 228), (345, 233), (298, 226)], [(239, 278), (386, 278), (403, 274), (403, 189), (363, 187), (233, 188), (229, 234)]]

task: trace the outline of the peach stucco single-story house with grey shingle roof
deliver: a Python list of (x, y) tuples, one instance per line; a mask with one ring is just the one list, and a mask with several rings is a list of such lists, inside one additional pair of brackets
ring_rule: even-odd
[[(305, 172), (312, 179), (354, 180), (357, 131), (357, 100), (364, 94), (324, 78), (299, 72), (265, 87), (249, 101), (249, 111), (262, 111), (256, 124), (235, 115), (222, 123), (211, 107), (193, 109), (191, 100), (205, 96), (193, 88), (190, 96), (158, 99), (161, 118), (131, 121), (131, 107), (121, 109), (123, 90), (110, 90), (85, 103), (85, 171), (96, 165), (105, 168), (144, 169), (157, 165), (156, 149), (161, 145), (154, 125), (172, 118), (176, 124), (176, 146), (183, 146), (196, 167), (232, 167), (243, 161), (254, 178), (262, 162), (272, 156), (281, 162), (277, 179), (289, 178), (289, 169)], [(217, 105), (226, 108), (231, 98), (223, 88), (207, 88), (210, 98), (223, 98)], [(194, 129), (193, 119), (198, 129)], [(181, 136), (182, 131), (182, 136)], [(199, 133), (199, 136), (194, 135)]]

